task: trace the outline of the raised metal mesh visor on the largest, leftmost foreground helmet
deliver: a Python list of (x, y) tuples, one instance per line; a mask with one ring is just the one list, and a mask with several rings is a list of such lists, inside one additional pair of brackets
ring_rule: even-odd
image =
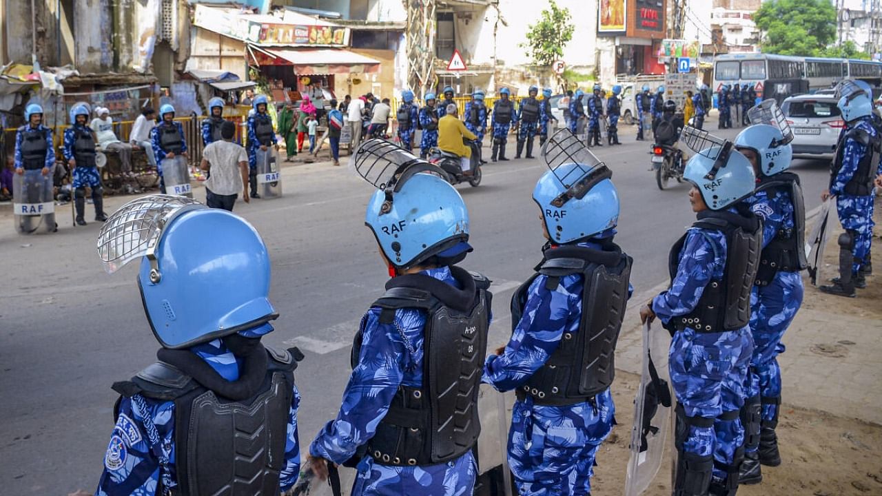
[(151, 195), (133, 199), (120, 207), (101, 226), (98, 256), (108, 274), (133, 259), (139, 259), (159, 241), (162, 229), (183, 207), (201, 204), (195, 199), (174, 195)]

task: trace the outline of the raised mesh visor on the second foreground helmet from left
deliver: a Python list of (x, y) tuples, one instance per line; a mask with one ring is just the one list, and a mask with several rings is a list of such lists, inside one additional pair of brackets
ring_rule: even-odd
[(349, 158), (349, 168), (379, 190), (399, 191), (401, 184), (417, 172), (445, 178), (437, 166), (385, 139), (364, 141)]

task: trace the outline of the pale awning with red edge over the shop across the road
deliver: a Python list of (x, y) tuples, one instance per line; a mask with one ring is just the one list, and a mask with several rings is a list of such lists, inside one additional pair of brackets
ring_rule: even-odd
[(380, 61), (345, 49), (264, 48), (256, 55), (261, 65), (293, 65), (298, 76), (350, 72), (364, 74), (377, 72), (380, 68)]

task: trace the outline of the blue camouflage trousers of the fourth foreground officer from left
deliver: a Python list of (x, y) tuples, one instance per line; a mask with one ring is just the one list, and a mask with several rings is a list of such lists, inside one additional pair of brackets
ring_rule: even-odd
[(683, 449), (699, 456), (714, 455), (714, 477), (727, 477), (722, 467), (732, 465), (744, 442), (744, 426), (723, 412), (738, 411), (748, 386), (747, 369), (753, 340), (749, 327), (723, 333), (678, 331), (670, 342), (668, 367), (676, 401), (686, 417), (714, 418), (714, 425), (689, 425)]

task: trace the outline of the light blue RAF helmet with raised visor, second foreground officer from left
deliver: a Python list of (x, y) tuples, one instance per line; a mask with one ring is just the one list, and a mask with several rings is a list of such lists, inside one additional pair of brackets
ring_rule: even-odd
[(377, 192), (364, 215), (393, 267), (407, 269), (437, 257), (456, 263), (472, 250), (468, 210), (444, 171), (383, 139), (369, 139), (350, 162)]

